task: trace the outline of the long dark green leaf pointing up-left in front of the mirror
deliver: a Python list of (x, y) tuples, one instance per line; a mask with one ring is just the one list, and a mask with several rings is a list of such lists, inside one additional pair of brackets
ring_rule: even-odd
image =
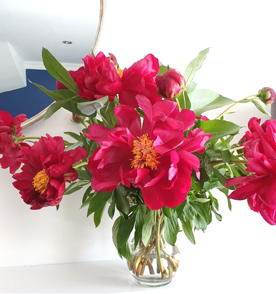
[(79, 91), (78, 86), (72, 79), (68, 71), (55, 59), (55, 57), (46, 49), (42, 49), (42, 60), (47, 71), (69, 90)]

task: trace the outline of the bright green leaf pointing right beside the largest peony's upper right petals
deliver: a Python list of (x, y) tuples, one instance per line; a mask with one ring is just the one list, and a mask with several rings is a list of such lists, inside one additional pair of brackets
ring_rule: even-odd
[(208, 140), (208, 142), (212, 142), (221, 137), (237, 134), (241, 129), (240, 126), (235, 125), (234, 123), (222, 120), (212, 120), (212, 121), (198, 121), (196, 123), (196, 127), (205, 131), (207, 134), (212, 134), (212, 137)]

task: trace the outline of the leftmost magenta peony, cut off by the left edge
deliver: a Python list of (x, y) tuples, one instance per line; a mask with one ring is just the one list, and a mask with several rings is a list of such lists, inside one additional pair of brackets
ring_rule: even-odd
[(0, 164), (2, 168), (10, 168), (10, 173), (15, 173), (21, 163), (18, 158), (21, 156), (21, 149), (28, 147), (27, 143), (16, 142), (13, 137), (22, 136), (21, 124), (27, 120), (25, 114), (12, 118), (7, 111), (0, 111)]

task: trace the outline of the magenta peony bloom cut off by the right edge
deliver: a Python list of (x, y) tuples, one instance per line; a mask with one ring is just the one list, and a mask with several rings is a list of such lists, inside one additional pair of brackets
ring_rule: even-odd
[(238, 186), (229, 198), (248, 199), (252, 210), (276, 225), (276, 120), (267, 120), (260, 126), (260, 119), (251, 118), (248, 128), (243, 137), (244, 153), (248, 158), (247, 171), (254, 174), (228, 179), (226, 186)]

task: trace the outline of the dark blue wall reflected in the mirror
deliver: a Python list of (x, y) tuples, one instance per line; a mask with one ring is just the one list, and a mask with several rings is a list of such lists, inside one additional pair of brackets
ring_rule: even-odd
[(28, 118), (31, 118), (54, 102), (28, 81), (29, 79), (48, 90), (56, 90), (56, 80), (47, 70), (26, 69), (26, 76), (27, 87), (0, 93), (0, 110), (8, 111), (13, 117), (25, 113)]

